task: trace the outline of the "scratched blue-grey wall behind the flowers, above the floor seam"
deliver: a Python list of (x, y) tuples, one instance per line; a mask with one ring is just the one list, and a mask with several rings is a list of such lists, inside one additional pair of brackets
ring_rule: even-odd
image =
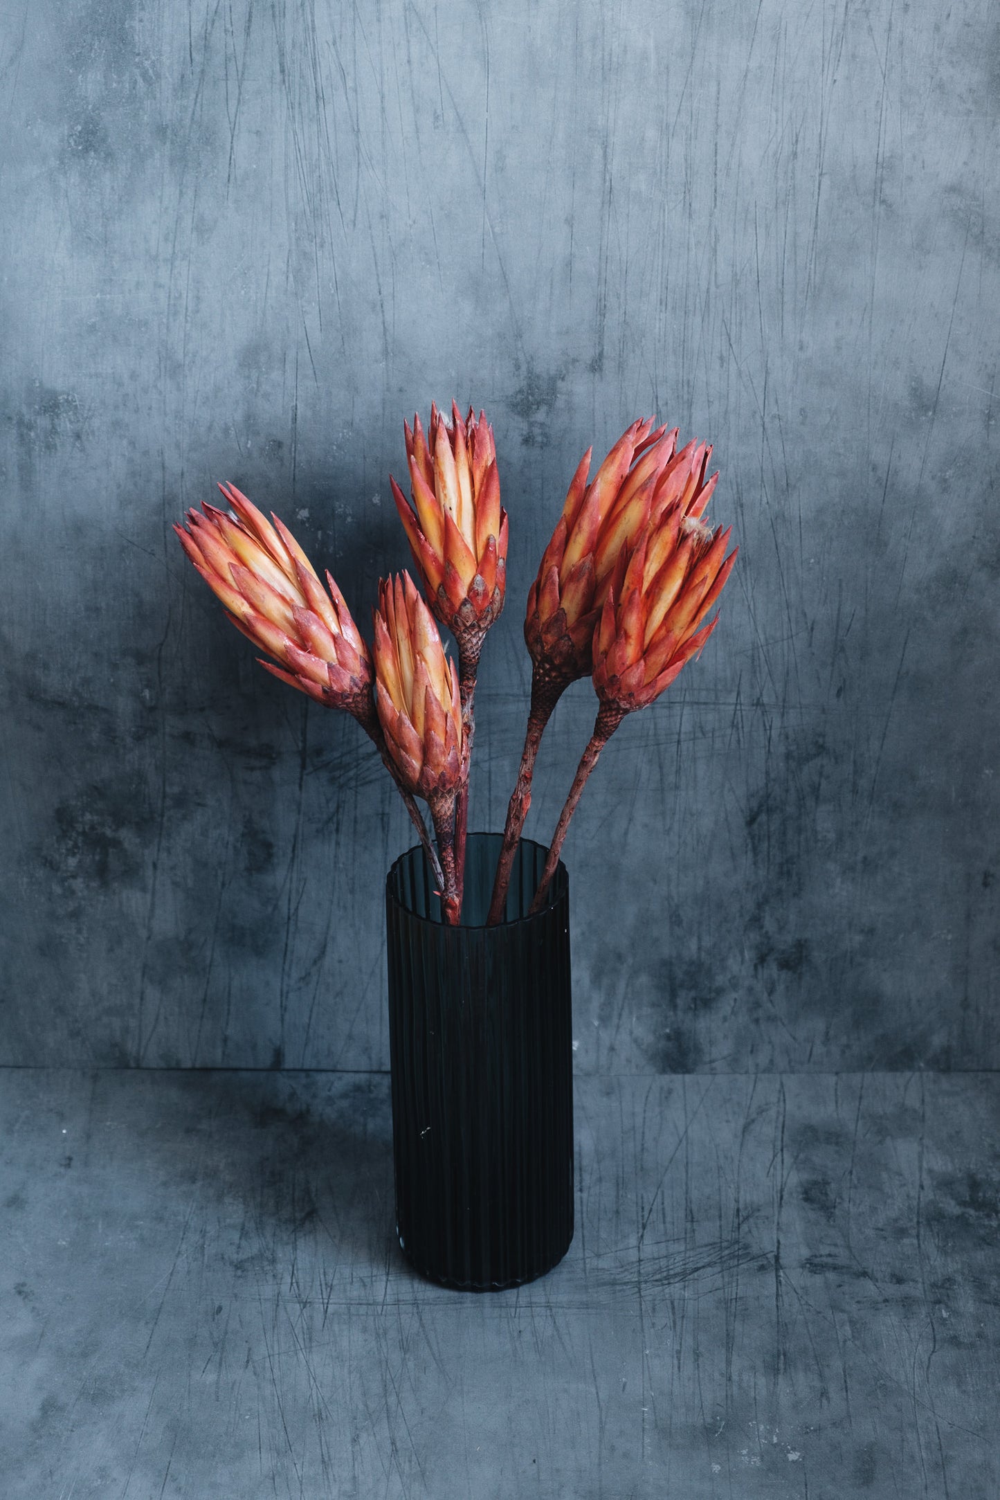
[(742, 548), (567, 844), (577, 1066), (999, 1065), (988, 0), (36, 0), (0, 45), (0, 1060), (387, 1065), (405, 814), (171, 524), (232, 478), (367, 620), (454, 393), (511, 514), (474, 826), (582, 450), (709, 436)]

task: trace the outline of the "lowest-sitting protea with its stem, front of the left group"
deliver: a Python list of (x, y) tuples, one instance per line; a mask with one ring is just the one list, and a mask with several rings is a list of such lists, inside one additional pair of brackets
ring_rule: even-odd
[(430, 806), (445, 921), (457, 922), (456, 795), (462, 784), (459, 674), (408, 573), (379, 584), (375, 610), (375, 702), (388, 753), (409, 792)]

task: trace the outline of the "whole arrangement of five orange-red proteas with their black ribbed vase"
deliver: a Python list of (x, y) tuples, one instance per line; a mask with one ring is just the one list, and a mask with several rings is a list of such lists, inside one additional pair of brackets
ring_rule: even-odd
[[(678, 450), (676, 428), (637, 420), (592, 478), (588, 448), (528, 592), (531, 705), (504, 834), (469, 834), (475, 682), (507, 588), (496, 446), (484, 412), (454, 402), (405, 440), (409, 500), (390, 484), (426, 597), (405, 572), (382, 580), (370, 650), (331, 574), (324, 588), (235, 486), (219, 486), (228, 510), (205, 502), (175, 531), (261, 666), (358, 722), (414, 822), (420, 844), (387, 880), (397, 1230), (417, 1269), (483, 1290), (541, 1275), (573, 1236), (570, 819), (625, 716), (711, 636), (736, 550), (705, 520), (708, 444)], [(594, 732), (543, 848), (522, 837), (535, 758), (583, 676)]]

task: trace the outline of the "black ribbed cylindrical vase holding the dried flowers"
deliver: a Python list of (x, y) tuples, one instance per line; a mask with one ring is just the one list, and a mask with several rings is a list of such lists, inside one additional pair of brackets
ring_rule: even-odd
[(396, 1227), (411, 1264), (489, 1292), (552, 1270), (573, 1239), (570, 880), (526, 916), (546, 862), (522, 838), (507, 920), (484, 927), (499, 834), (469, 834), (462, 926), (423, 849), (385, 882)]

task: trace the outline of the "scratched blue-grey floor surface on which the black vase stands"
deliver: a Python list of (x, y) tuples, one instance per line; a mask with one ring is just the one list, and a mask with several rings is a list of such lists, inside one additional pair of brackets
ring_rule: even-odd
[(520, 1292), (393, 1239), (384, 1074), (0, 1072), (4, 1500), (1000, 1494), (1000, 1077), (580, 1077)]

